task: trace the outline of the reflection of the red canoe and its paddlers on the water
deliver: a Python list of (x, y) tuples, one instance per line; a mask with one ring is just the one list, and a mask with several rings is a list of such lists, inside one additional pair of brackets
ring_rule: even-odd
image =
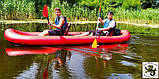
[(107, 73), (105, 69), (113, 59), (113, 54), (126, 55), (128, 45), (100, 45), (97, 49), (91, 48), (90, 45), (18, 46), (6, 48), (6, 53), (13, 57), (36, 55), (29, 69), (22, 70), (15, 78), (105, 78)]

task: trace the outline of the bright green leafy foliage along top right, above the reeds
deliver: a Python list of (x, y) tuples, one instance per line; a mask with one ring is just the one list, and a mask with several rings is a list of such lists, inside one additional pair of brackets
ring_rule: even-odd
[(100, 3), (104, 9), (108, 7), (117, 8), (122, 7), (124, 9), (139, 9), (139, 8), (157, 8), (159, 7), (159, 1), (157, 0), (81, 0), (79, 3), (82, 7), (99, 8)]

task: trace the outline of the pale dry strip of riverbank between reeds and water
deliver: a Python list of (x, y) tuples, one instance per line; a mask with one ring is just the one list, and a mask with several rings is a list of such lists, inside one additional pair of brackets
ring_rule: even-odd
[[(16, 23), (47, 23), (45, 19), (32, 19), (32, 20), (0, 20), (0, 24), (16, 24)], [(69, 22), (71, 24), (86, 24), (86, 23), (97, 23), (97, 21), (75, 21)], [(135, 26), (146, 26), (152, 28), (159, 28), (159, 24), (142, 24), (142, 23), (134, 23), (129, 21), (117, 21), (117, 23), (130, 24)]]

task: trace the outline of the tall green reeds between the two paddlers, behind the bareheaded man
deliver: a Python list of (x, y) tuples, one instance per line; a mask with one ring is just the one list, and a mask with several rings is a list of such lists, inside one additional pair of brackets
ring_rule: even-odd
[(59, 7), (62, 11), (63, 16), (67, 16), (69, 20), (94, 20), (96, 18), (96, 9), (89, 10), (88, 8), (81, 8), (80, 6), (73, 5), (69, 6), (67, 2), (63, 2), (61, 5), (59, 0), (52, 1), (51, 8), (49, 8), (49, 13), (51, 18), (55, 18), (54, 8)]

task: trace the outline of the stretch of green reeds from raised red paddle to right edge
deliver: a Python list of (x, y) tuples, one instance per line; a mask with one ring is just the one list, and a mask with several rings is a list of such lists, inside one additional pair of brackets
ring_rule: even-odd
[[(98, 10), (95, 8), (94, 10), (90, 10), (88, 8), (84, 8), (81, 6), (69, 6), (67, 2), (64, 2), (62, 5), (58, 2), (59, 0), (55, 0), (52, 2), (50, 13), (53, 13), (53, 9), (55, 7), (59, 7), (62, 9), (62, 13), (64, 16), (67, 16), (70, 21), (95, 21), (97, 20)], [(144, 23), (144, 24), (159, 24), (159, 9), (124, 9), (122, 7), (119, 8), (110, 8), (106, 9), (102, 8), (102, 16), (106, 17), (107, 11), (112, 10), (115, 13), (114, 19), (116, 21), (131, 21), (135, 23)], [(51, 14), (53, 15), (53, 14)], [(53, 15), (51, 18), (55, 18)]]

